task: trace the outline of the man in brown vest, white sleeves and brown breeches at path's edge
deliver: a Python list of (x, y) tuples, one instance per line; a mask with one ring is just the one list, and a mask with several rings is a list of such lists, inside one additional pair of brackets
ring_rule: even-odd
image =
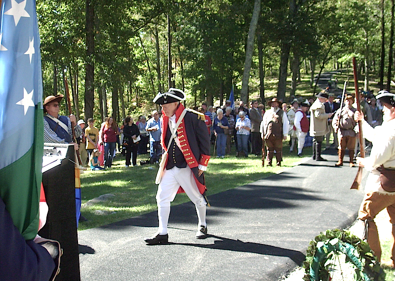
[(272, 165), (273, 156), (276, 151), (277, 166), (281, 166), (282, 160), (282, 140), (287, 139), (289, 122), (286, 113), (279, 108), (280, 102), (273, 98), (268, 102), (271, 107), (262, 118), (260, 132), (266, 141), (268, 151), (268, 165)]

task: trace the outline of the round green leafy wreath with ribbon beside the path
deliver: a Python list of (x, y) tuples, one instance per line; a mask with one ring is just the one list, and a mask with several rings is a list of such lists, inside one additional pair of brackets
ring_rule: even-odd
[(373, 255), (367, 242), (361, 241), (349, 231), (327, 230), (320, 233), (307, 249), (305, 281), (330, 280), (330, 258), (336, 253), (346, 255), (346, 263), (354, 267), (354, 280), (356, 281), (385, 281), (385, 273)]

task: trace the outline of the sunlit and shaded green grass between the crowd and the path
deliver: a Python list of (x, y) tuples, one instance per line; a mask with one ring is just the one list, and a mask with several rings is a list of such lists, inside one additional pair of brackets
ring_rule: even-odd
[[(284, 141), (283, 152), (282, 167), (262, 167), (260, 157), (250, 155), (248, 158), (236, 158), (234, 151), (232, 156), (227, 156), (225, 159), (212, 157), (205, 172), (207, 195), (266, 178), (292, 167), (300, 161), (296, 154), (289, 155), (288, 141)], [(303, 152), (304, 155), (310, 156), (311, 148), (305, 148)], [(137, 162), (146, 159), (147, 156), (139, 156)], [(103, 194), (111, 193), (115, 197), (82, 208), (81, 213), (88, 221), (79, 223), (79, 230), (106, 225), (157, 209), (155, 195), (158, 186), (155, 184), (155, 177), (158, 167), (150, 164), (129, 168), (124, 166), (124, 157), (117, 156), (111, 169), (105, 171), (87, 170), (81, 175), (82, 204)], [(187, 201), (189, 199), (185, 194), (178, 194), (172, 205)], [(115, 213), (96, 215), (96, 210)]]

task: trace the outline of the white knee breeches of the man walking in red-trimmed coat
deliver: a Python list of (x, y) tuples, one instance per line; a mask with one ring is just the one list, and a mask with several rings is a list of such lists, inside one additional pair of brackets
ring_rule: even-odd
[(197, 188), (194, 174), (187, 166), (186, 168), (164, 169), (156, 197), (158, 207), (170, 207), (170, 202), (176, 197), (180, 186), (197, 207), (206, 205), (206, 201)]

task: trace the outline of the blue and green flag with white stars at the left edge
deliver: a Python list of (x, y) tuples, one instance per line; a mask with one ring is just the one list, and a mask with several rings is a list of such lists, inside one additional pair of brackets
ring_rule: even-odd
[(38, 231), (43, 115), (35, 0), (2, 0), (0, 196), (25, 239)]

